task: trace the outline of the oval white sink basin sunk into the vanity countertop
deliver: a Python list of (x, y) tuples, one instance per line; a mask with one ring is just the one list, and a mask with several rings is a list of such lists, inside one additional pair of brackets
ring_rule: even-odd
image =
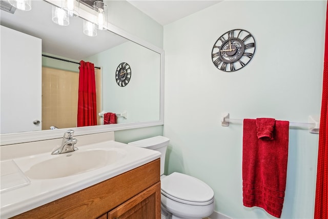
[(31, 166), (25, 175), (32, 179), (71, 176), (113, 164), (124, 157), (124, 154), (114, 149), (94, 149), (52, 155), (53, 158)]

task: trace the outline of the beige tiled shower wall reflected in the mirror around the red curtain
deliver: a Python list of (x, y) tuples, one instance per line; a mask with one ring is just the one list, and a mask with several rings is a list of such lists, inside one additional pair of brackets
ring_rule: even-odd
[[(97, 116), (101, 111), (101, 70), (95, 68)], [(76, 127), (78, 72), (42, 68), (42, 130)], [(100, 116), (98, 124), (100, 122)]]

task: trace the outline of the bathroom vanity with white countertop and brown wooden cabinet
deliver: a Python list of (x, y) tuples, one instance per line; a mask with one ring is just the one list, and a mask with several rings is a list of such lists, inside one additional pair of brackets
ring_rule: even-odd
[(2, 185), (1, 218), (160, 218), (159, 152), (115, 142), (113, 132), (76, 138), (77, 151), (58, 155), (60, 138), (0, 147), (1, 162), (29, 181)]

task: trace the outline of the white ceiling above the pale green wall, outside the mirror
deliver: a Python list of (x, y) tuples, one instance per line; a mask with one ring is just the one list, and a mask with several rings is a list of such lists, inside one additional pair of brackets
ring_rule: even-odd
[(157, 23), (167, 25), (222, 0), (127, 0)]

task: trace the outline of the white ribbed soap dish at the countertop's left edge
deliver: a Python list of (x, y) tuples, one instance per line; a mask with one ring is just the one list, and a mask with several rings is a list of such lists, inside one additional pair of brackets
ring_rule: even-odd
[(27, 186), (31, 183), (13, 160), (3, 161), (0, 166), (0, 193)]

